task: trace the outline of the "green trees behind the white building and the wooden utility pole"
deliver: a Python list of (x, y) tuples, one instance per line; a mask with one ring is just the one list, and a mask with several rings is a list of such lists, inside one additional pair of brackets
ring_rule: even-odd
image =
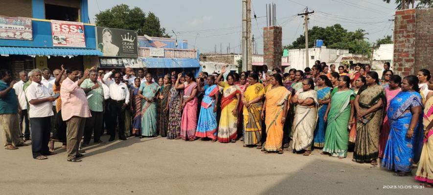
[[(313, 26), (308, 30), (308, 47), (315, 46), (315, 41), (320, 39), (323, 40), (323, 44), (328, 48), (348, 49), (351, 53), (370, 55), (370, 43), (365, 41), (365, 35), (368, 35), (368, 33), (364, 29), (350, 32), (340, 24), (334, 24), (325, 28)], [(292, 44), (283, 47), (283, 49), (301, 48), (305, 48), (304, 35), (300, 35)]]

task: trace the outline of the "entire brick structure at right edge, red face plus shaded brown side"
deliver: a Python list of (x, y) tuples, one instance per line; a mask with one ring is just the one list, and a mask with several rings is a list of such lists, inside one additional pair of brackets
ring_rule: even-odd
[(395, 12), (394, 71), (402, 76), (433, 71), (433, 8)]

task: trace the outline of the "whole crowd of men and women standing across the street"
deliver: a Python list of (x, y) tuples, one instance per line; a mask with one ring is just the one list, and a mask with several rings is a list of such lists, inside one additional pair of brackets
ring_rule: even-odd
[[(433, 80), (427, 69), (401, 78), (384, 64), (326, 65), (220, 73), (172, 72), (154, 78), (143, 69), (34, 69), (12, 81), (0, 70), (0, 116), (5, 149), (31, 140), (35, 159), (62, 142), (68, 161), (80, 162), (91, 139), (162, 136), (234, 143), (282, 154), (320, 154), (412, 175), (433, 187)], [(28, 81), (27, 81), (28, 80)], [(157, 82), (155, 82), (157, 81)], [(29, 127), (30, 124), (30, 127)], [(21, 138), (20, 138), (21, 136)], [(81, 140), (83, 138), (83, 140)], [(82, 141), (82, 142), (81, 142)]]

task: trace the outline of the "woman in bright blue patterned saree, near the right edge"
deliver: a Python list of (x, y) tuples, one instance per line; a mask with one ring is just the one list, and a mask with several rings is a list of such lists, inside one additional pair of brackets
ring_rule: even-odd
[(412, 175), (412, 162), (417, 158), (417, 137), (422, 133), (422, 97), (418, 78), (407, 76), (399, 92), (389, 103), (387, 112), (389, 137), (382, 160), (382, 167), (395, 170), (395, 176)]

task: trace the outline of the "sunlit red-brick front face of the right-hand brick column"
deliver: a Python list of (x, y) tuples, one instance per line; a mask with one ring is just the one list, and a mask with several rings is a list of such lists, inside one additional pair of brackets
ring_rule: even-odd
[(395, 12), (394, 71), (402, 76), (414, 74), (415, 65), (415, 9)]

